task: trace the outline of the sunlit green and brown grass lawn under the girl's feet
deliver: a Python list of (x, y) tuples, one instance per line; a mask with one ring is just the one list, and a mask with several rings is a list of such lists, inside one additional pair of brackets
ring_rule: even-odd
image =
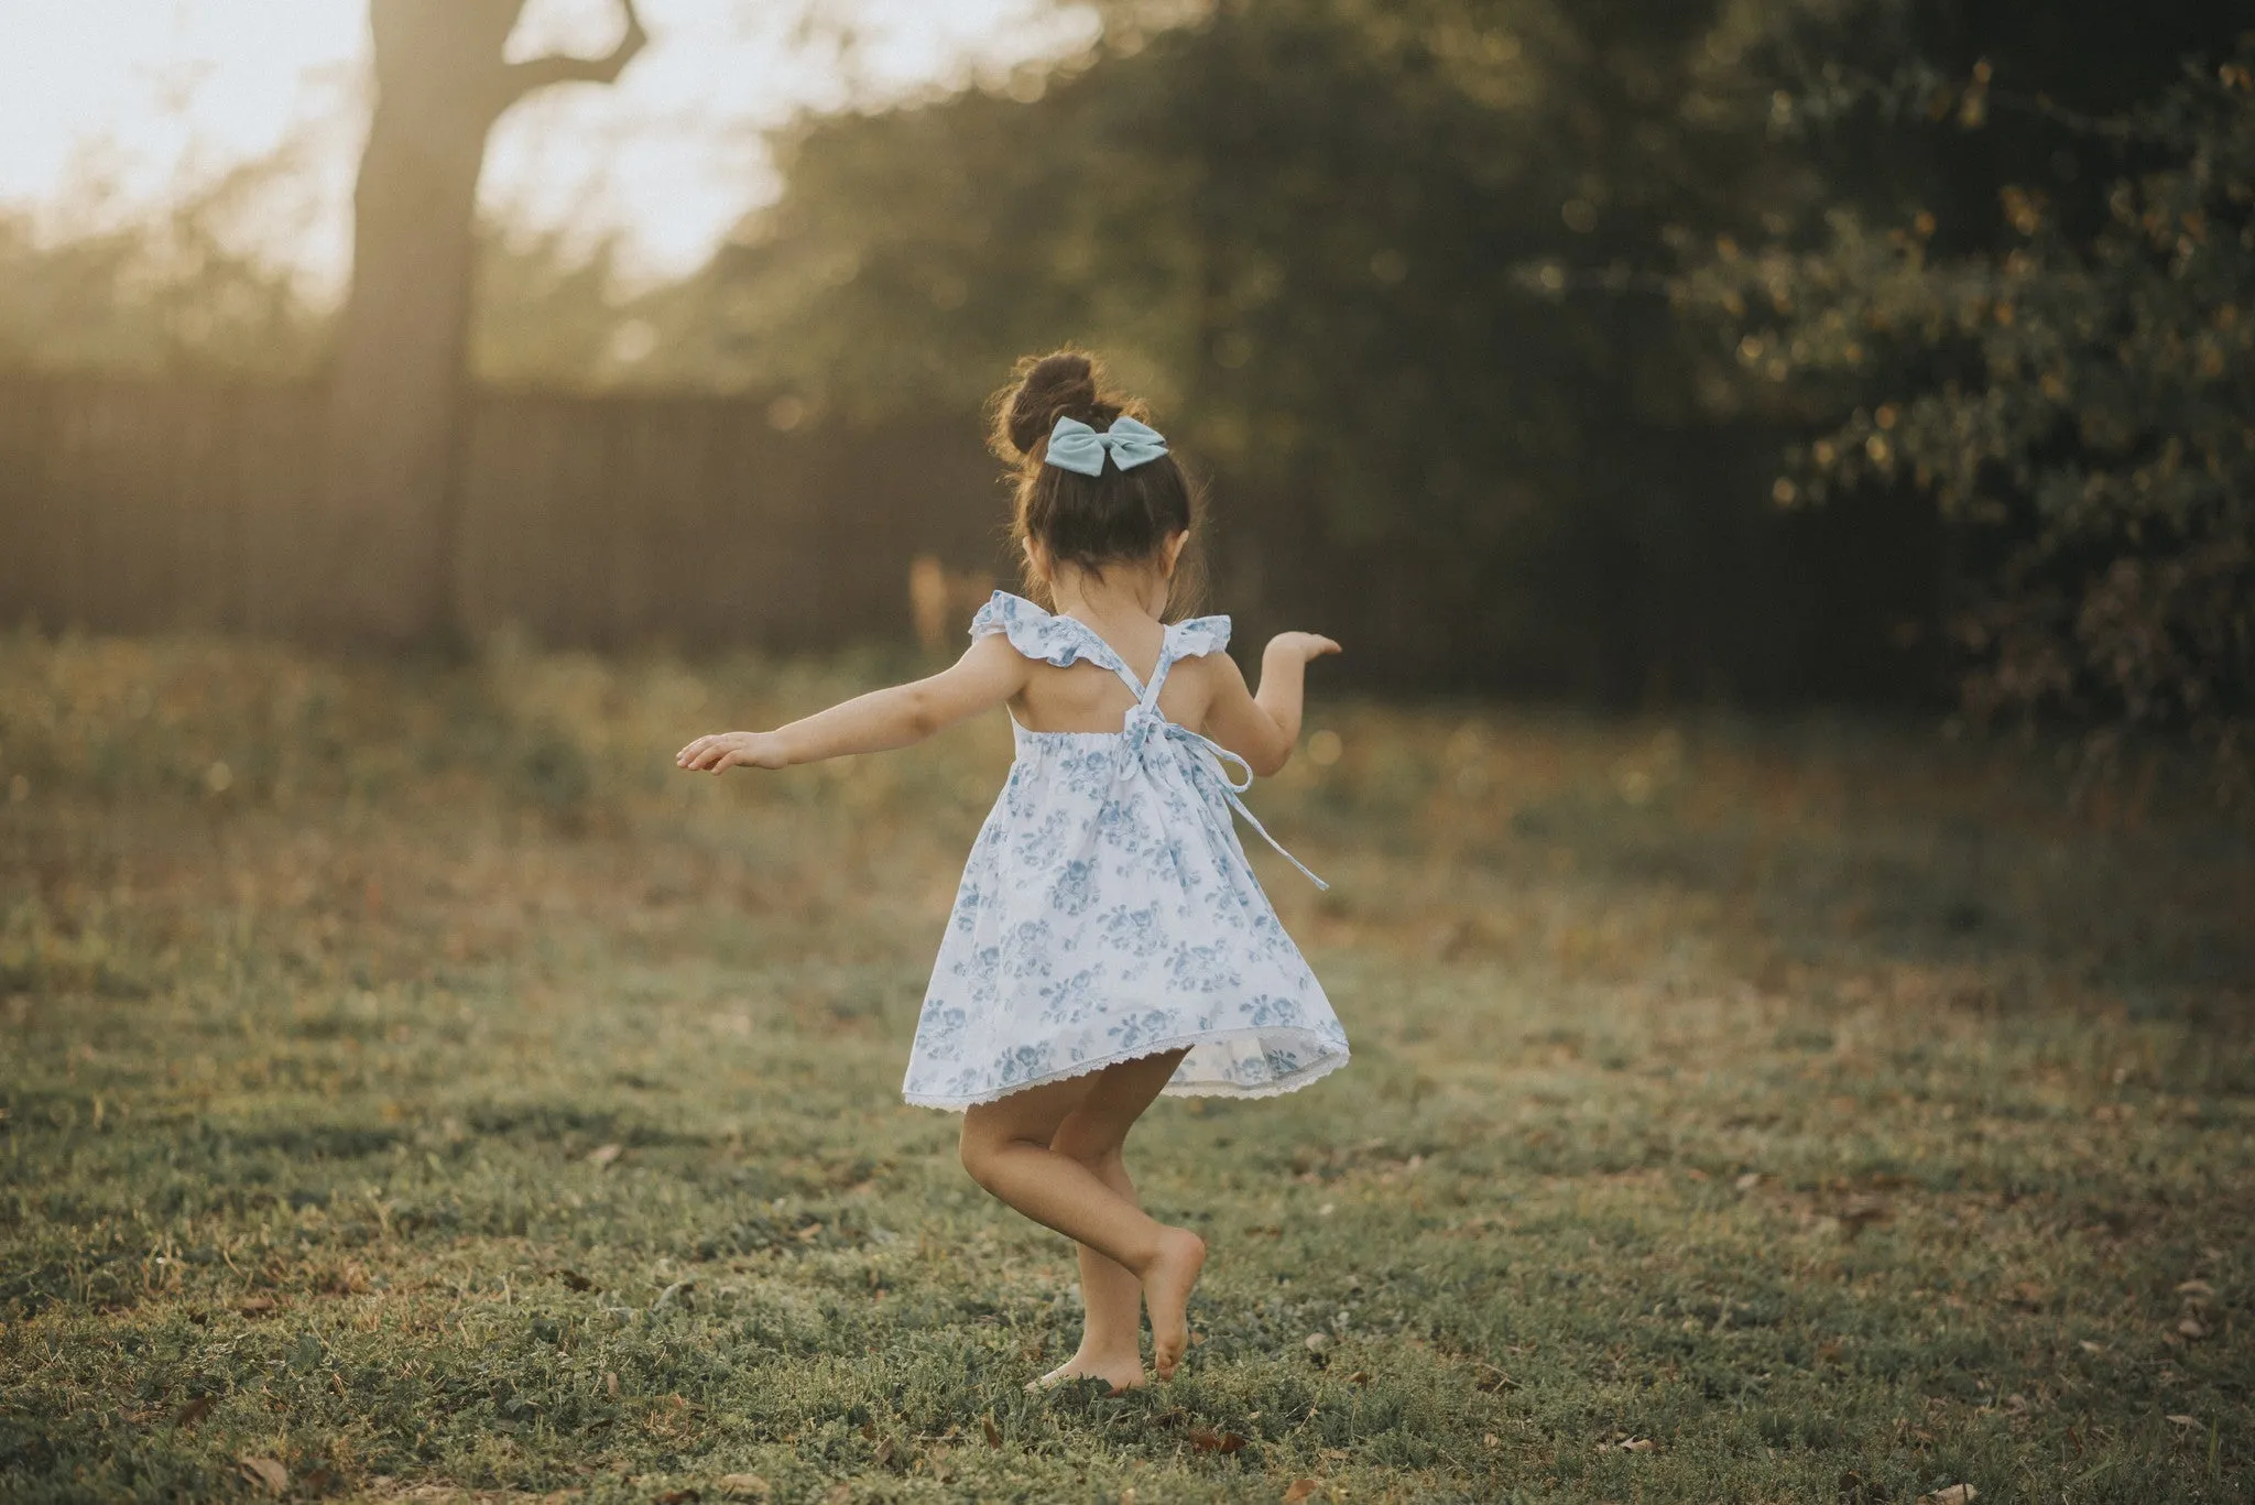
[(1152, 1110), (1202, 1340), (1035, 1399), (897, 1099), (999, 718), (670, 763), (886, 668), (0, 641), (0, 1498), (2255, 1496), (2244, 817), (1319, 690), (1355, 1060)]

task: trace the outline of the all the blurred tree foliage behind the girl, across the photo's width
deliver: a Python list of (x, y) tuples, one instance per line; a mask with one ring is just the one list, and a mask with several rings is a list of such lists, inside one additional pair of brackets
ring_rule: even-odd
[[(970, 431), (1080, 341), (1211, 472), (1222, 605), (1358, 591), (1405, 688), (1933, 704), (1971, 652), (1978, 711), (2244, 749), (2246, 95), (2160, 93), (2230, 5), (1098, 11), (1055, 68), (798, 122), (676, 287), (489, 228), (474, 368)], [(275, 273), (153, 244), (0, 226), (0, 357), (322, 359)], [(1822, 508), (1770, 505), (1795, 435)]]

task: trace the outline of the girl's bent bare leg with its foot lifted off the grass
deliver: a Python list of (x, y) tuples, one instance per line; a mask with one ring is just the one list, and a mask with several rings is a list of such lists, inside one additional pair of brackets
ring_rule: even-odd
[[(1159, 1070), (1161, 1063), (1164, 1070)], [(1141, 1067), (1141, 1072), (1132, 1072), (1132, 1067)], [(1128, 1083), (1148, 1083), (1141, 1103), (1150, 1103), (1166, 1085), (1175, 1063), (1166, 1056), (1152, 1056), (1114, 1070), (1128, 1072)], [(1166, 1379), (1188, 1349), (1184, 1311), (1191, 1286), (1197, 1284), (1197, 1270), (1206, 1261), (1206, 1246), (1186, 1227), (1166, 1227), (1152, 1221), (1087, 1164), (1051, 1148), (1064, 1119), (1096, 1097), (1107, 1076), (1109, 1072), (1103, 1072), (1096, 1081), (1073, 1079), (1028, 1088), (997, 1103), (972, 1108), (963, 1115), (963, 1169), (1035, 1223), (1053, 1227), (1134, 1273), (1150, 1306), (1152, 1361), (1159, 1376)], [(1125, 1090), (1125, 1083), (1116, 1083), (1098, 1099), (1098, 1121), (1114, 1121), (1128, 1097), (1132, 1092)], [(1132, 1121), (1130, 1115), (1121, 1124), (1121, 1137), (1125, 1137), (1125, 1124)]]

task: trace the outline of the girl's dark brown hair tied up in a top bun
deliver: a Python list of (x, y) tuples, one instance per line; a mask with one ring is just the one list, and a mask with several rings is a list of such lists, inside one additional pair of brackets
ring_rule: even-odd
[[(1197, 519), (1197, 496), (1170, 454), (1134, 469), (1121, 469), (1105, 456), (1100, 476), (1044, 463), (1049, 431), (1060, 417), (1078, 417), (1098, 433), (1121, 415), (1146, 422), (1143, 404), (1109, 390), (1103, 370), (1087, 354), (1058, 350), (1026, 357), (992, 406), (990, 442), (1017, 483), (1010, 537), (1040, 544), (1051, 566), (1076, 564), (1103, 575), (1107, 564), (1148, 564)], [(1193, 571), (1193, 560), (1177, 562), (1170, 605), (1195, 596)], [(1026, 584), (1044, 589), (1031, 566)]]

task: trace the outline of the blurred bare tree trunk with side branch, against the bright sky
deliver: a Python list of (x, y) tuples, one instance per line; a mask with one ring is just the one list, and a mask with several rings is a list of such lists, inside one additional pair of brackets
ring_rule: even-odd
[(555, 83), (611, 83), (643, 50), (634, 0), (600, 59), (510, 63), (525, 0), (370, 0), (377, 111), (354, 192), (352, 291), (331, 372), (322, 580), (329, 636), (446, 634), (451, 469), (476, 269), (478, 174), (501, 115)]

